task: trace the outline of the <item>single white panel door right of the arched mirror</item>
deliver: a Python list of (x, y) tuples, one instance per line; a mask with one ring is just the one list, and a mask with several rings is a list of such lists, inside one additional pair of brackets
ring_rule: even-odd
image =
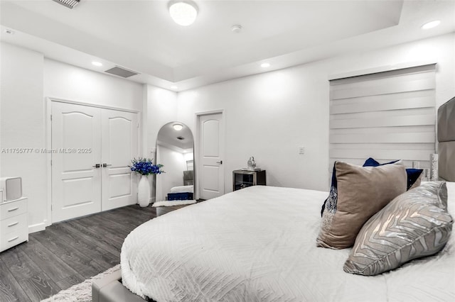
[(200, 198), (210, 199), (225, 193), (223, 169), (223, 113), (199, 116)]

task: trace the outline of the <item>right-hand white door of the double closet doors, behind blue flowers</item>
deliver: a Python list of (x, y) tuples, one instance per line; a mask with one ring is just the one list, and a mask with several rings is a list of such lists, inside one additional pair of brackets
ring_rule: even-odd
[(137, 157), (137, 113), (102, 111), (102, 211), (137, 203), (137, 177), (128, 165)]

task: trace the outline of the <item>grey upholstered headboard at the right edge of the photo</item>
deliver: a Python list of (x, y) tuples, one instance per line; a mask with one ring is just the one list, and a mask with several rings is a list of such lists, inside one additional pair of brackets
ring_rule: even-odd
[(455, 97), (438, 109), (438, 141), (439, 177), (455, 181)]

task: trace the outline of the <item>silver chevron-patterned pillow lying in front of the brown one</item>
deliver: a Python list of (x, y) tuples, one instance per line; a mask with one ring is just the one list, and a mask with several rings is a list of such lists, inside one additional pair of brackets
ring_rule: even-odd
[(445, 182), (422, 184), (397, 196), (363, 225), (343, 269), (373, 276), (434, 255), (449, 240), (453, 223)]

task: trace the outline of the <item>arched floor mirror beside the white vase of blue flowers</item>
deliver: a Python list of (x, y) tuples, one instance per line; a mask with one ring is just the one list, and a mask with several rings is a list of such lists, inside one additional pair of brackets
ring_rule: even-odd
[(167, 123), (156, 138), (156, 163), (166, 173), (156, 177), (156, 201), (193, 199), (194, 140), (187, 125)]

